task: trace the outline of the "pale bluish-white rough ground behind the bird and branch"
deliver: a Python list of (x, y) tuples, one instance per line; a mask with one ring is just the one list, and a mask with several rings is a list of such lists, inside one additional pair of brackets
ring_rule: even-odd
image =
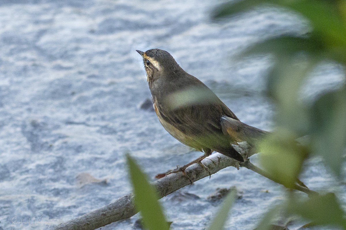
[[(188, 148), (163, 129), (155, 113), (139, 108), (150, 93), (136, 49), (169, 51), (242, 121), (272, 128), (274, 107), (263, 97), (272, 60), (234, 60), (232, 54), (307, 27), (265, 10), (215, 23), (214, 6), (200, 0), (0, 2), (0, 229), (49, 229), (131, 192), (125, 152), (150, 178), (200, 156), (183, 154)], [(342, 70), (325, 64), (315, 75), (320, 78), (303, 90), (306, 96), (336, 87)], [(302, 180), (311, 189), (339, 191), (345, 202), (345, 185), (336, 184), (319, 159), (310, 163)], [(82, 172), (108, 183), (78, 188), (75, 177)], [(267, 207), (283, 199), (281, 186), (227, 168), (162, 199), (172, 229), (204, 229), (219, 204), (207, 197), (231, 186), (242, 196), (227, 230), (253, 229)], [(136, 229), (137, 219), (102, 229)]]

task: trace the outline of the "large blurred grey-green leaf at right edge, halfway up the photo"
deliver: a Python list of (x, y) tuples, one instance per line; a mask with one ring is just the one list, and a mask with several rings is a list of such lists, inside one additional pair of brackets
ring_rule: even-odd
[(310, 110), (314, 152), (340, 176), (346, 147), (346, 88), (322, 95)]

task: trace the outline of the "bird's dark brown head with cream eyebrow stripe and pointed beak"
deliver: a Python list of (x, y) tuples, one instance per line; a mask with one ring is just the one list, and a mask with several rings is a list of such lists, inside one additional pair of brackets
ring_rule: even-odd
[(149, 86), (162, 77), (172, 77), (181, 70), (172, 55), (160, 49), (151, 49), (145, 52), (136, 50), (142, 57)]

